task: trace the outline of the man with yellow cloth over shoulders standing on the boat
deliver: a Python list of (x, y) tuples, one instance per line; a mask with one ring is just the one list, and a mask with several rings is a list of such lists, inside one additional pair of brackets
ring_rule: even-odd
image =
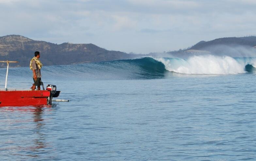
[(31, 59), (30, 65), (29, 65), (30, 69), (33, 71), (34, 84), (31, 87), (32, 90), (35, 90), (36, 86), (37, 86), (37, 89), (40, 90), (40, 85), (42, 85), (40, 69), (42, 68), (43, 64), (41, 63), (39, 58), (40, 58), (40, 52), (36, 51), (35, 57)]

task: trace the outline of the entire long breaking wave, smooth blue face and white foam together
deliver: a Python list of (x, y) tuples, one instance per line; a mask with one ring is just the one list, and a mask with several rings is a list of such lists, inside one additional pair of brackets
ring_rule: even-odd
[[(42, 77), (60, 79), (160, 79), (173, 74), (239, 74), (255, 73), (256, 58), (193, 56), (180, 58), (143, 57), (97, 63), (43, 66)], [(6, 69), (0, 69), (5, 78)], [(31, 77), (29, 67), (9, 68), (9, 77)], [(1, 81), (3, 81), (1, 80)]]

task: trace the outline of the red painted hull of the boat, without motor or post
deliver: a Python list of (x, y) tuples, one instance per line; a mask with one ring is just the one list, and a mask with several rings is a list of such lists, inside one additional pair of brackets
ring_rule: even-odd
[(0, 91), (0, 107), (47, 105), (48, 90)]

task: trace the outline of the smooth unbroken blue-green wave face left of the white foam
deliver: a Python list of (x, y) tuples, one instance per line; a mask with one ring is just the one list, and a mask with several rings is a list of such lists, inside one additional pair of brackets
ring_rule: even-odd
[[(43, 66), (42, 77), (59, 77), (61, 79), (158, 79), (168, 73), (165, 65), (150, 57), (129, 60), (114, 60), (97, 63), (73, 65)], [(6, 69), (0, 70), (5, 76)], [(28, 67), (9, 68), (9, 76), (31, 77)]]

